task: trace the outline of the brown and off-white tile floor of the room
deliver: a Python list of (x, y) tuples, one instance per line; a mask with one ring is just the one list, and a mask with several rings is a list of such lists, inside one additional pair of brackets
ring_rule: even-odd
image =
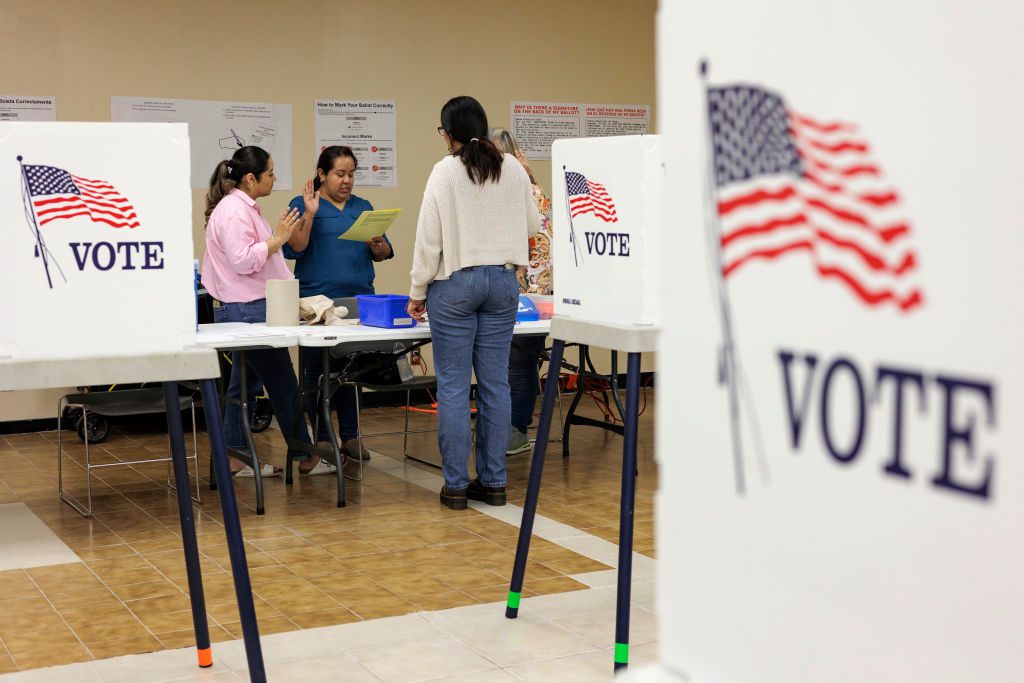
[[(586, 404), (581, 414), (599, 415)], [(640, 424), (634, 661), (652, 657), (656, 648), (652, 415), (650, 405)], [(364, 429), (392, 430), (401, 417), (398, 409), (367, 411)], [(431, 420), (416, 415), (413, 421), (427, 426)], [(202, 438), (204, 504), (197, 508), (197, 530), (211, 635), (222, 643), (215, 646), (217, 666), (202, 675), (188, 648), (187, 586), (176, 501), (163, 485), (166, 466), (100, 471), (95, 514), (86, 519), (56, 497), (54, 443), (53, 432), (0, 436), (0, 508), (24, 504), (81, 559), (0, 571), (0, 674), (63, 680), (71, 671), (44, 668), (70, 665), (81, 668), (75, 674), (81, 680), (143, 680), (140, 671), (154, 681), (245, 680), (238, 607), (216, 493), (206, 485)], [(74, 436), (65, 443), (81, 458), (84, 447)], [(258, 444), (281, 464), (279, 432), (260, 434)], [(518, 622), (485, 603), (507, 595), (529, 454), (509, 459), (509, 506), (465, 512), (439, 506), (437, 471), (401, 460), (400, 437), (368, 442), (378, 454), (362, 482), (349, 482), (345, 509), (334, 505), (331, 477), (297, 477), (291, 487), (268, 479), (267, 514), (257, 516), (252, 481), (236, 481), (270, 680), (403, 681), (481, 671), (495, 674), (488, 680), (578, 679), (589, 678), (588, 672), (604, 677), (612, 645), (622, 440), (574, 427), (571, 444), (565, 461), (560, 444), (549, 446), (543, 517), (523, 593), (528, 599)], [(437, 458), (433, 434), (412, 438), (410, 450)], [(94, 447), (93, 457), (114, 462), (135, 459), (140, 451), (163, 456), (165, 436), (125, 425)], [(72, 487), (83, 485), (84, 474), (79, 469), (71, 479)], [(140, 652), (151, 654), (119, 656)]]

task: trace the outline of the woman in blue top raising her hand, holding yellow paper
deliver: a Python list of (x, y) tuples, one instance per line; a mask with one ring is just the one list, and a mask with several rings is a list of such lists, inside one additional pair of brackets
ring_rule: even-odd
[[(339, 240), (364, 211), (373, 211), (370, 202), (352, 195), (358, 162), (351, 147), (333, 145), (321, 153), (316, 177), (307, 180), (304, 194), (312, 194), (311, 203), (301, 196), (290, 206), (302, 214), (299, 225), (285, 246), (285, 258), (295, 259), (295, 276), (301, 296), (323, 294), (332, 299), (374, 294), (374, 262), (394, 256), (387, 237), (369, 242)], [(311, 193), (310, 193), (311, 190)], [(309, 204), (310, 210), (306, 211)], [(319, 349), (303, 348), (305, 377), (303, 386), (314, 389), (323, 372)], [(370, 453), (356, 438), (355, 389), (345, 387), (335, 393), (332, 405), (338, 413), (342, 450), (348, 458), (369, 460)], [(327, 425), (318, 424), (319, 412), (309, 401), (310, 421), (316, 426), (316, 441), (327, 441)]]

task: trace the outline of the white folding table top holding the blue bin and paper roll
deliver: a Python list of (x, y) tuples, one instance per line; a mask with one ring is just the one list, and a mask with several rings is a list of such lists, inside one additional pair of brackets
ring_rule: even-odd
[[(517, 323), (514, 335), (547, 335), (550, 321)], [(213, 323), (199, 326), (196, 343), (219, 349), (258, 348), (260, 346), (337, 346), (338, 344), (375, 341), (421, 341), (430, 339), (430, 326), (412, 328), (374, 328), (366, 325), (311, 325), (268, 328), (263, 323)]]

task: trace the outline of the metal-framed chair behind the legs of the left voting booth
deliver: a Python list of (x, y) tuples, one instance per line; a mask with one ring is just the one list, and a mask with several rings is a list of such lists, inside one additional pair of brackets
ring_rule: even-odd
[[(191, 396), (179, 396), (178, 408), (182, 411), (191, 411), (193, 418), (193, 453), (186, 455), (187, 460), (195, 461), (196, 465), (196, 496), (193, 500), (202, 503), (200, 499), (199, 483), (199, 439), (196, 432), (196, 403)], [(61, 425), (66, 409), (71, 412), (81, 411), (81, 424), (84, 430), (85, 441), (85, 480), (86, 480), (86, 505), (83, 506), (78, 499), (65, 490), (63, 487), (63, 427)], [(88, 517), (92, 514), (92, 470), (101, 467), (116, 467), (120, 465), (144, 465), (148, 463), (167, 463), (167, 484), (173, 489), (171, 482), (171, 458), (145, 458), (142, 460), (123, 461), (116, 463), (93, 464), (89, 456), (89, 443), (95, 442), (89, 433), (89, 417), (101, 415), (104, 417), (118, 417), (125, 415), (146, 415), (153, 413), (164, 413), (166, 403), (164, 402), (164, 390), (157, 386), (153, 388), (128, 389), (124, 391), (90, 391), (87, 393), (70, 393), (57, 399), (57, 492), (60, 500), (75, 508), (79, 514)]]

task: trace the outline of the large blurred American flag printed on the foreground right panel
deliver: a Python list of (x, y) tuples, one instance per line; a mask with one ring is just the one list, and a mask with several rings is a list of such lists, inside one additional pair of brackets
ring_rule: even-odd
[(922, 304), (910, 225), (857, 126), (757, 87), (709, 88), (708, 102), (725, 278), (802, 252), (867, 305)]

